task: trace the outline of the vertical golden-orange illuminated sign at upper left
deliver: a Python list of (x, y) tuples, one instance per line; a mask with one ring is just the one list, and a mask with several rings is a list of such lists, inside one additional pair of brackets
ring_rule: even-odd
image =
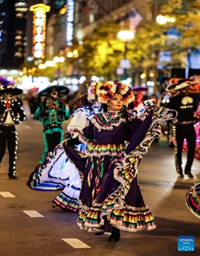
[(30, 11), (34, 12), (32, 55), (34, 58), (45, 58), (46, 12), (50, 11), (50, 6), (41, 3), (30, 6)]

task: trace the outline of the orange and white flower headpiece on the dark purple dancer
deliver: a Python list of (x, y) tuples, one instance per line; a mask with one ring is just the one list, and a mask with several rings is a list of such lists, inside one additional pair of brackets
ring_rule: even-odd
[(124, 106), (128, 106), (134, 102), (134, 92), (130, 86), (122, 83), (122, 81), (109, 81), (99, 86), (97, 90), (98, 102), (107, 104), (114, 94), (122, 94)]

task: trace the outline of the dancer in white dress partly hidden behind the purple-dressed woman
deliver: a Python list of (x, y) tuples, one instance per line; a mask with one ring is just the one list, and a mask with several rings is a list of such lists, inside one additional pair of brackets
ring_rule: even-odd
[[(98, 111), (98, 103), (96, 102), (96, 87), (101, 82), (92, 82), (88, 86), (87, 94), (81, 98), (70, 102), (71, 106), (78, 107), (72, 116), (65, 137), (73, 134), (73, 138), (78, 136), (77, 132), (81, 132), (90, 121), (90, 117)], [(85, 149), (84, 144), (77, 147), (78, 151)], [(82, 178), (82, 177), (81, 177)], [(56, 146), (46, 154), (46, 161), (36, 166), (35, 170), (30, 174), (27, 186), (32, 190), (63, 190), (53, 200), (52, 207), (59, 206), (63, 210), (78, 210), (78, 198), (82, 186), (82, 181), (78, 174), (78, 170), (72, 164), (61, 144)]]

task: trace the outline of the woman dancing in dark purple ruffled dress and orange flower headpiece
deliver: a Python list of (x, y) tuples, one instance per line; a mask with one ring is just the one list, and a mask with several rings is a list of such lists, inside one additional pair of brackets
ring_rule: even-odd
[[(105, 113), (95, 114), (78, 138), (68, 138), (62, 146), (84, 174), (78, 226), (96, 234), (111, 232), (109, 241), (117, 242), (119, 230), (155, 228), (154, 216), (138, 186), (138, 165), (154, 138), (162, 134), (158, 122), (174, 120), (177, 113), (154, 106), (142, 121), (126, 111), (134, 94), (118, 81), (106, 82), (97, 94)], [(86, 158), (71, 147), (78, 141), (88, 143)]]

